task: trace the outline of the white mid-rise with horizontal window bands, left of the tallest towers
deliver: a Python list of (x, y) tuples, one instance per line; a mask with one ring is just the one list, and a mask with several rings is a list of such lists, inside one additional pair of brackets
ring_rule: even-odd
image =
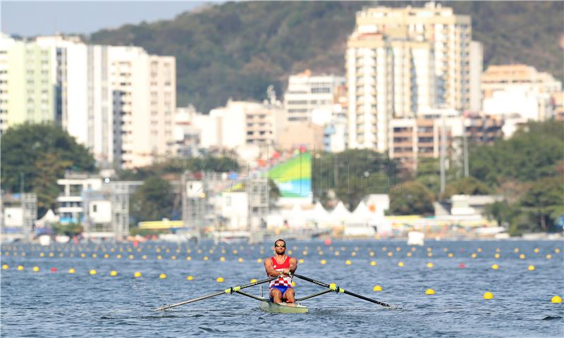
[[(288, 122), (331, 120), (338, 87), (345, 84), (345, 77), (336, 75), (312, 75), (309, 70), (290, 75), (284, 94), (284, 110)], [(317, 120), (317, 121), (315, 121)]]

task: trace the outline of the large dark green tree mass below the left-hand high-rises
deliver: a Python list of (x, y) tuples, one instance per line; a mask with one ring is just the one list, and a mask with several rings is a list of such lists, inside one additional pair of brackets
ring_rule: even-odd
[(66, 170), (94, 170), (88, 149), (55, 125), (10, 127), (0, 144), (2, 188), (19, 192), (23, 183), (23, 192), (36, 192), (39, 216), (56, 205), (56, 180), (63, 178)]

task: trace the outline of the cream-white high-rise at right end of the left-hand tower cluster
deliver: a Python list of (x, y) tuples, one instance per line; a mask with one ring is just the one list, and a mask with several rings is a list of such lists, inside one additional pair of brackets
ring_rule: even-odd
[(169, 156), (176, 108), (176, 59), (140, 47), (109, 49), (114, 96), (114, 161), (123, 168)]

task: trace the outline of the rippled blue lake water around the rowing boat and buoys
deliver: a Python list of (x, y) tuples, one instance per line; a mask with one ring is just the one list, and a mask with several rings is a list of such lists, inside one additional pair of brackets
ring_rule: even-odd
[[(271, 256), (271, 246), (4, 245), (1, 263), (8, 268), (1, 270), (0, 334), (564, 337), (564, 304), (551, 303), (555, 295), (564, 297), (564, 248), (560, 241), (431, 241), (415, 249), (405, 242), (288, 242), (292, 256), (304, 260), (297, 273), (403, 308), (390, 310), (346, 294), (329, 293), (304, 301), (309, 313), (275, 314), (260, 310), (259, 302), (253, 299), (224, 294), (154, 311), (166, 303), (247, 284), (253, 278), (264, 279), (263, 265), (257, 259)], [(392, 256), (388, 256), (390, 252)], [(109, 258), (104, 258), (105, 254)], [(521, 254), (525, 258), (520, 258)], [(371, 265), (372, 261), (376, 265)], [(398, 266), (400, 262), (403, 267)], [(434, 266), (429, 268), (427, 263)], [(493, 264), (499, 268), (492, 269)], [(23, 270), (18, 270), (18, 265)], [(527, 270), (529, 265), (535, 269)], [(33, 271), (35, 266), (39, 271)], [(75, 273), (68, 273), (71, 268)], [(90, 275), (90, 270), (96, 270), (96, 275)], [(118, 275), (111, 276), (112, 270)], [(142, 277), (133, 277), (135, 272)], [(166, 278), (159, 277), (162, 273)], [(187, 280), (188, 276), (192, 280)], [(225, 282), (216, 282), (218, 277)], [(298, 278), (294, 281), (298, 297), (324, 289)], [(381, 292), (373, 291), (376, 285), (381, 286)], [(429, 288), (436, 294), (426, 295)], [(258, 295), (259, 287), (245, 291)], [(484, 300), (484, 292), (493, 293), (494, 299)]]

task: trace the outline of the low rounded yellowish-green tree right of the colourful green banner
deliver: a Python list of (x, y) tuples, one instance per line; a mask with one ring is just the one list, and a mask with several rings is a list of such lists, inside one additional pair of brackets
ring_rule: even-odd
[(434, 213), (433, 194), (417, 181), (405, 182), (391, 189), (392, 215), (428, 215)]

